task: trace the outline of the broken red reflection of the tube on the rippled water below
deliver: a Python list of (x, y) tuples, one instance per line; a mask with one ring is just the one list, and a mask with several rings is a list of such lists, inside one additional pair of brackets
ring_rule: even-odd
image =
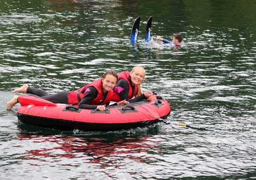
[[(111, 135), (111, 134), (110, 134)], [(107, 134), (107, 136), (109, 136)], [(40, 143), (42, 146), (46, 147), (47, 144), (54, 144), (51, 148), (43, 148), (38, 150), (27, 151), (29, 154), (25, 159), (34, 159), (38, 157), (40, 161), (42, 157), (53, 157), (55, 159), (62, 158), (86, 158), (87, 162), (85, 163), (99, 163), (100, 159), (110, 158), (111, 155), (118, 155), (123, 157), (122, 154), (132, 154), (145, 152), (146, 149), (150, 149), (153, 146), (141, 144), (147, 139), (144, 137), (125, 137), (124, 139), (116, 139), (115, 137), (108, 138), (81, 138), (78, 136), (66, 136), (66, 135), (52, 135), (45, 137), (44, 135), (26, 135), (19, 134), (19, 140), (29, 140), (31, 143)], [(138, 143), (138, 144), (137, 144)], [(144, 149), (144, 150), (143, 150)], [(56, 153), (59, 152), (59, 153)], [(91, 158), (88, 158), (91, 157)], [(126, 156), (127, 159), (130, 159), (129, 155)], [(134, 158), (132, 158), (134, 159)], [(137, 159), (141, 161), (142, 159)], [(43, 160), (44, 161), (44, 160)], [(103, 163), (103, 162), (101, 162)]]

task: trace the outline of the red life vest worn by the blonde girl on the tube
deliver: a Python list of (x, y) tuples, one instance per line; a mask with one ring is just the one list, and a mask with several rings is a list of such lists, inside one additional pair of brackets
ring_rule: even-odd
[[(120, 72), (118, 74), (118, 81), (120, 79), (124, 79), (124, 80), (127, 81), (128, 88), (129, 88), (128, 89), (128, 99), (131, 99), (132, 97), (134, 97), (138, 93), (138, 86), (135, 85), (134, 92), (132, 94), (132, 84), (130, 83), (129, 76), (130, 76), (130, 73), (127, 72), (127, 71)], [(126, 100), (128, 100), (128, 99), (126, 99)], [(114, 96), (112, 97), (111, 101), (115, 101), (115, 102), (119, 102), (120, 101), (120, 97), (118, 96), (117, 92), (114, 94)]]

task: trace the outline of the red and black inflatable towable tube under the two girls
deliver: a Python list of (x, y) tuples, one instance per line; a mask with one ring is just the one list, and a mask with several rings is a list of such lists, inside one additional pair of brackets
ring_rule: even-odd
[(112, 131), (144, 127), (160, 122), (170, 114), (168, 101), (142, 100), (125, 106), (106, 106), (106, 111), (78, 109), (77, 106), (54, 104), (40, 97), (20, 95), (18, 119), (27, 125), (72, 131)]

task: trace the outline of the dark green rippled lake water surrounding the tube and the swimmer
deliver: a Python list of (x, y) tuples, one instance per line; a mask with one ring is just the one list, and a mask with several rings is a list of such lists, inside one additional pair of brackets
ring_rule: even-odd
[[(256, 178), (256, 1), (0, 0), (1, 179)], [(179, 51), (145, 44), (184, 37)], [(131, 46), (141, 17), (139, 43)], [(144, 66), (171, 125), (59, 132), (22, 125), (5, 104), (23, 83), (74, 90), (105, 69)], [(19, 105), (14, 107), (17, 110)], [(225, 132), (198, 131), (177, 122)], [(237, 133), (232, 133), (237, 132)]]

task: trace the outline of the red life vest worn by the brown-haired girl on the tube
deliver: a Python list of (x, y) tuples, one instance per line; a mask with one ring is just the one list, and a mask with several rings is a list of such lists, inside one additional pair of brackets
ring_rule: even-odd
[[(84, 97), (84, 91), (86, 88), (93, 86), (95, 87), (95, 89), (98, 91), (98, 95), (97, 97), (95, 97), (95, 99), (93, 99), (89, 104), (91, 105), (98, 105), (100, 103), (100, 100), (102, 98), (102, 78), (96, 79), (95, 81), (87, 84), (86, 86), (75, 90), (75, 91), (69, 91), (67, 99), (68, 99), (68, 104), (74, 104), (75, 102), (80, 102), (80, 100)], [(108, 91), (107, 97), (105, 98), (105, 100), (99, 104), (99, 105), (104, 105), (110, 102), (112, 96), (114, 94), (113, 90)], [(80, 99), (78, 98), (80, 97)]]

